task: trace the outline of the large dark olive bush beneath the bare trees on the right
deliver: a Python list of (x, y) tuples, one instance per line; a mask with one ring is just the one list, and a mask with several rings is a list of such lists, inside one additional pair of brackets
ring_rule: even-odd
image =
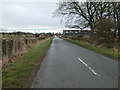
[(102, 42), (108, 48), (113, 47), (115, 42), (114, 30), (115, 25), (111, 19), (96, 20), (95, 37), (98, 42)]

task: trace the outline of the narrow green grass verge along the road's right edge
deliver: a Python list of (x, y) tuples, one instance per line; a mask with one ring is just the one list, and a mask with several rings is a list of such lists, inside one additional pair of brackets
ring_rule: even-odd
[(118, 54), (118, 52), (115, 52), (115, 51), (112, 51), (108, 48), (100, 48), (100, 47), (97, 47), (97, 46), (93, 46), (85, 41), (78, 41), (78, 40), (73, 40), (73, 39), (70, 39), (70, 38), (63, 38), (64, 40), (67, 40), (71, 43), (74, 43), (76, 45), (79, 45), (79, 46), (82, 46), (84, 48), (87, 48), (89, 50), (92, 50), (92, 51), (95, 51), (97, 53), (100, 53), (102, 55), (105, 55), (107, 57), (110, 57), (110, 58), (113, 58), (115, 60), (118, 60), (118, 58), (120, 58), (120, 53)]

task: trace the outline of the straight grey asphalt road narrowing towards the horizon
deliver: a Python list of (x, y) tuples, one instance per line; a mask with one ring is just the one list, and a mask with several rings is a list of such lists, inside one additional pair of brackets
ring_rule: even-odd
[(118, 62), (54, 37), (31, 87), (117, 88)]

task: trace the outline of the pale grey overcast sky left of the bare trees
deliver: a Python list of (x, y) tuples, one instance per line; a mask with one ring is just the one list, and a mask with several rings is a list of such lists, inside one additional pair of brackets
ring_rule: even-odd
[(61, 32), (64, 29), (61, 18), (53, 17), (56, 2), (2, 2), (1, 5), (2, 28), (31, 32), (35, 32), (34, 29), (37, 32)]

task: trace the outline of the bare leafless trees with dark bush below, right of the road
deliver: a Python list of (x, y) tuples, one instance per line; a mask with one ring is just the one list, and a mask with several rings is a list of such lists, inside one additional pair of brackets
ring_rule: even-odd
[(120, 42), (120, 2), (59, 2), (55, 16), (65, 20), (66, 27), (90, 28), (90, 43), (113, 47)]

